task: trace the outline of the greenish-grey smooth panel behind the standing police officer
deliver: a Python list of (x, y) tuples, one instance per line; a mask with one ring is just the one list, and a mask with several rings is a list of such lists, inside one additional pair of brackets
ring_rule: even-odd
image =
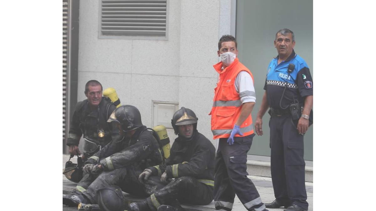
[[(256, 105), (253, 121), (260, 108), (264, 83), (270, 60), (277, 56), (274, 48), (276, 32), (290, 29), (295, 35), (295, 52), (308, 64), (313, 77), (313, 3), (312, 0), (237, 1), (236, 39), (238, 58), (252, 72), (255, 80)], [(262, 119), (263, 136), (253, 138), (248, 154), (270, 156), (269, 122), (265, 113)], [(304, 159), (313, 160), (313, 125), (304, 137)]]

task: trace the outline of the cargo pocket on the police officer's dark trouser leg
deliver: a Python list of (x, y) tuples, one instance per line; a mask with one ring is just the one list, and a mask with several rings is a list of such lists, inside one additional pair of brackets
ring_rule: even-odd
[(297, 142), (287, 142), (287, 155), (285, 163), (291, 166), (305, 164), (303, 140)]

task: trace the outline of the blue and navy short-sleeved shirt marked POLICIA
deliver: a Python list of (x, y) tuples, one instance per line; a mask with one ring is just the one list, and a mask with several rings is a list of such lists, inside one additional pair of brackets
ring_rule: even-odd
[[(295, 68), (289, 74), (287, 69), (290, 63), (293, 63)], [(311, 72), (309, 72), (307, 63), (294, 50), (285, 61), (278, 64), (277, 56), (271, 60), (268, 66), (264, 89), (267, 92), (267, 100), (271, 108), (282, 109), (279, 102), (286, 85), (281, 102), (284, 108), (294, 100), (303, 106), (305, 96), (313, 95)]]

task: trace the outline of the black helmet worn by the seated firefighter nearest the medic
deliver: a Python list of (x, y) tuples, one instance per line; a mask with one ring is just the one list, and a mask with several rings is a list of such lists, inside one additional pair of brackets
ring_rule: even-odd
[(196, 117), (196, 114), (191, 109), (181, 107), (174, 113), (174, 116), (171, 119), (171, 125), (177, 135), (179, 133), (179, 130), (176, 127), (177, 125), (193, 124), (194, 130), (196, 130), (197, 120), (199, 120), (199, 118)]

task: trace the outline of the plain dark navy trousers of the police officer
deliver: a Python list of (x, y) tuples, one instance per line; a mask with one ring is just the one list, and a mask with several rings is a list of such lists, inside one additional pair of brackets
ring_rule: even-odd
[(308, 209), (304, 142), (296, 124), (288, 113), (270, 118), (271, 178), (277, 202)]

